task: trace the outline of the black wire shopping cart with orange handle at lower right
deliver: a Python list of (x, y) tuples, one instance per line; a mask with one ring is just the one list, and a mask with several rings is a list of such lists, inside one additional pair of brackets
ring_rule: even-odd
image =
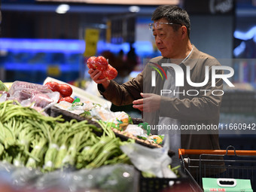
[(239, 151), (230, 145), (226, 150), (179, 149), (178, 155), (184, 173), (201, 191), (202, 178), (249, 179), (256, 191), (256, 151)]

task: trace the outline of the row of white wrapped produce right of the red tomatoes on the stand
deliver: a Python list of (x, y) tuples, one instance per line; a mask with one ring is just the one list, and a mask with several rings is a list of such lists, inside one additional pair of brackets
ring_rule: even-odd
[[(133, 119), (124, 111), (113, 112), (102, 105), (93, 102), (59, 102), (54, 105), (54, 108), (59, 108), (63, 111), (69, 111), (72, 114), (90, 119), (93, 121), (102, 120), (103, 122), (111, 123), (111, 129), (117, 136), (136, 139), (143, 145), (152, 148), (161, 148), (163, 136), (151, 135), (148, 130), (148, 123), (140, 122), (133, 123)], [(73, 117), (76, 118), (76, 116)], [(81, 119), (81, 118), (79, 118)]]

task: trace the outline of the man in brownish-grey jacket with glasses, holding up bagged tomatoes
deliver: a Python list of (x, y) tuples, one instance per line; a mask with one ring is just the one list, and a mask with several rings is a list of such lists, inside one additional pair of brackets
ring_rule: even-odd
[[(162, 56), (151, 59), (142, 73), (122, 85), (106, 79), (99, 80), (101, 72), (98, 70), (90, 69), (89, 74), (106, 99), (114, 105), (133, 103), (134, 108), (143, 111), (144, 120), (151, 127), (158, 128), (151, 129), (152, 133), (169, 136), (169, 148), (177, 154), (172, 158), (175, 166), (178, 165), (178, 148), (219, 149), (218, 120), (222, 80), (217, 79), (215, 87), (212, 87), (211, 72), (212, 66), (220, 66), (220, 63), (191, 44), (190, 19), (186, 11), (177, 6), (162, 5), (154, 11), (151, 20), (154, 23), (150, 27)], [(175, 63), (183, 70), (184, 79), (176, 78), (173, 67), (163, 67), (165, 81), (159, 73), (153, 78), (152, 71), (164, 63)], [(187, 74), (194, 83), (208, 81), (202, 87), (191, 86)], [(154, 80), (156, 84), (152, 86)], [(175, 86), (177, 81), (184, 81), (184, 86)], [(163, 94), (163, 90), (168, 91)], [(191, 125), (208, 125), (217, 127), (217, 130), (181, 130)], [(167, 126), (176, 129), (164, 129)]]

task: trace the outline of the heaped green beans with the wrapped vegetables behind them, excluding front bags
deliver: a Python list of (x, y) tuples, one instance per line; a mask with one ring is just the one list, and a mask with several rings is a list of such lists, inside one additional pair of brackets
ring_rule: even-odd
[[(5, 154), (1, 154), (0, 157), (10, 163), (16, 162), (18, 165), (33, 168), (41, 167), (44, 171), (66, 165), (77, 168), (98, 167), (114, 163), (116, 160), (117, 162), (129, 161), (129, 158), (119, 149), (123, 140), (126, 142), (141, 140), (147, 145), (158, 148), (163, 142), (162, 136), (151, 136), (148, 133), (145, 123), (133, 124), (132, 118), (123, 111), (112, 112), (97, 103), (81, 102), (79, 98), (72, 98), (72, 87), (68, 84), (50, 81), (40, 85), (14, 81), (8, 91), (4, 84), (2, 87), (5, 93), (0, 97), (3, 101), (0, 103), (2, 106), (0, 111), (3, 114), (1, 126), (5, 128), (3, 128), (1, 144)], [(45, 110), (53, 106), (77, 114), (84, 119), (68, 121), (60, 116), (47, 117)], [(18, 114), (17, 111), (19, 111)], [(8, 114), (10, 117), (5, 119)], [(11, 114), (17, 114), (17, 116), (12, 117)], [(96, 133), (100, 131), (102, 133), (99, 137)], [(12, 140), (6, 140), (5, 136)], [(123, 139), (122, 136), (126, 138)], [(26, 141), (24, 142), (26, 147), (21, 146), (22, 142), (17, 142), (21, 138), (23, 142)], [(71, 149), (68, 149), (68, 146)], [(90, 146), (93, 148), (88, 150)], [(11, 152), (8, 153), (8, 151), (14, 151), (13, 147), (20, 151), (20, 153), (14, 153), (18, 154), (17, 157), (14, 157)], [(104, 155), (100, 155), (101, 151), (105, 151)], [(113, 159), (113, 154), (108, 155), (107, 151), (113, 152), (117, 157)], [(39, 159), (40, 162), (38, 162)]]

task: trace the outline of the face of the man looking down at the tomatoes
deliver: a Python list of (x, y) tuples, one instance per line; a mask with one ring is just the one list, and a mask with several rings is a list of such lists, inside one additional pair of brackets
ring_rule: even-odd
[(168, 20), (164, 18), (154, 21), (154, 23), (157, 24), (153, 26), (153, 35), (162, 56), (180, 59), (178, 53), (181, 49), (181, 27), (175, 32), (172, 24), (163, 24), (168, 23)]

